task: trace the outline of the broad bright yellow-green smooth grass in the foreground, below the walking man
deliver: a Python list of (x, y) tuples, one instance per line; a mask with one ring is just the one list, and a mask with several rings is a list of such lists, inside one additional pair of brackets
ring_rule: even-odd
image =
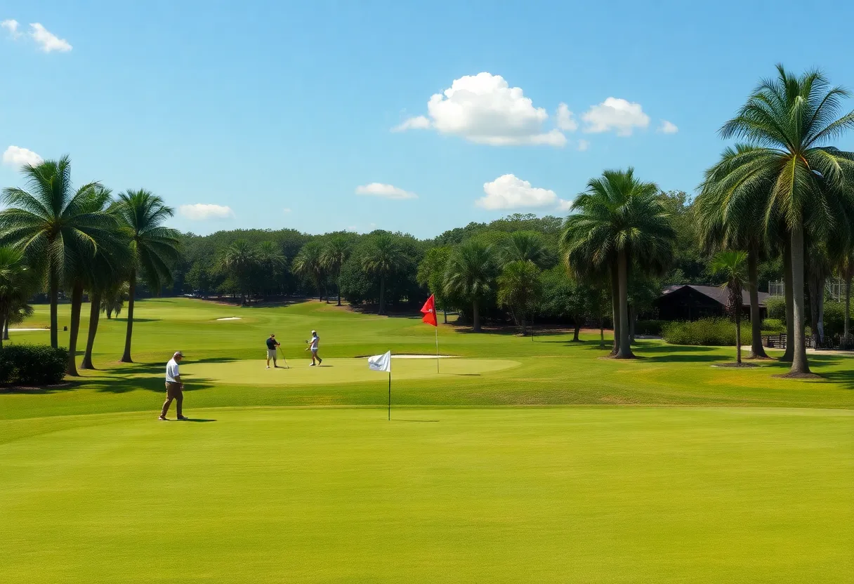
[(0, 423), (0, 581), (851, 578), (852, 412), (193, 419)]

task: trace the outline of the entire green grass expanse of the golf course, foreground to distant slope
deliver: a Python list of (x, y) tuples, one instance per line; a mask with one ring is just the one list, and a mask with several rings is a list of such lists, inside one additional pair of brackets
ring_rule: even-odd
[[(0, 581), (854, 581), (851, 358), (798, 382), (710, 366), (730, 348), (440, 327), (461, 358), (395, 359), (389, 423), (353, 358), (431, 353), (418, 318), (137, 307), (137, 364), (104, 319), (100, 371), (0, 392)], [(155, 421), (175, 349), (197, 422)]]

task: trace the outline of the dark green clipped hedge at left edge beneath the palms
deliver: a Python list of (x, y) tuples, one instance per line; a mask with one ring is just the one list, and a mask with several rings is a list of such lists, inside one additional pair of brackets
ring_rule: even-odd
[(0, 383), (50, 385), (65, 377), (68, 350), (48, 345), (7, 345), (0, 349)]

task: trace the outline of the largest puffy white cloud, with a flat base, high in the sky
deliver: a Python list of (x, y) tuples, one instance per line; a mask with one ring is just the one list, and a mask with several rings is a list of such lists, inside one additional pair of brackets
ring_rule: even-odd
[(535, 108), (521, 87), (510, 87), (500, 75), (477, 73), (454, 79), (447, 90), (430, 97), (427, 114), (429, 119), (410, 118), (395, 131), (431, 126), (442, 134), (493, 146), (566, 143), (563, 132), (543, 131), (546, 110)]

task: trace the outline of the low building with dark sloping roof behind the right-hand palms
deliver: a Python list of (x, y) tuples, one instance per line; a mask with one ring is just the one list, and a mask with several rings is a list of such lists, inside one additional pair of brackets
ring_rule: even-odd
[[(759, 315), (765, 318), (768, 309), (765, 301), (767, 292), (759, 292)], [(668, 286), (661, 292), (653, 306), (658, 309), (661, 320), (697, 320), (699, 318), (722, 317), (727, 312), (728, 291), (718, 286), (694, 286), (692, 284), (676, 284)], [(750, 318), (750, 294), (741, 290), (742, 310), (744, 316)]]

